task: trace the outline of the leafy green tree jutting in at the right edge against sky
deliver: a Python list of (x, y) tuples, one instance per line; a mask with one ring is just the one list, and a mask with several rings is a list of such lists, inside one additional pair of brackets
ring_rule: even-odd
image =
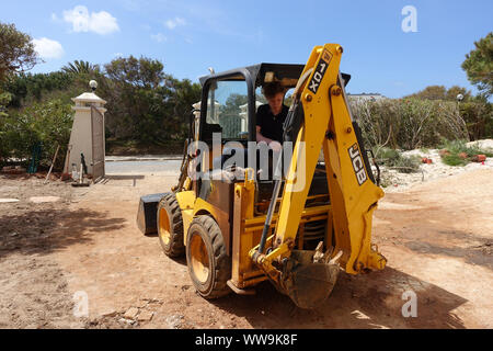
[(490, 97), (493, 93), (493, 32), (474, 43), (475, 49), (466, 55), (462, 69), (469, 81)]

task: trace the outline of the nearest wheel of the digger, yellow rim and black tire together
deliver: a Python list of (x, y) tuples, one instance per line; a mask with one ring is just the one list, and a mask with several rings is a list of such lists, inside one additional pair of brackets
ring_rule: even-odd
[(209, 216), (195, 218), (186, 241), (188, 273), (197, 292), (208, 299), (228, 295), (231, 260), (216, 220)]

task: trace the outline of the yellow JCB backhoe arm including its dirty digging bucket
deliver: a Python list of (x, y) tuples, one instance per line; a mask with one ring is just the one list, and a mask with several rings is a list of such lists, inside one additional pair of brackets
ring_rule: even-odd
[[(340, 73), (342, 55), (337, 44), (318, 46), (311, 53), (288, 115), (288, 121), (294, 121), (300, 107), (303, 111), (284, 180), (277, 225), (274, 235), (267, 237), (272, 230), (268, 216), (274, 213), (280, 181), (275, 186), (262, 241), (250, 252), (270, 280), (306, 308), (329, 296), (340, 271), (339, 261), (349, 274), (382, 270), (387, 263), (371, 246), (372, 215), (383, 191), (375, 184), (348, 107)], [(328, 228), (333, 228), (334, 235), (328, 236), (326, 252), (321, 252), (322, 246), (318, 251), (298, 251), (294, 250), (296, 237), (321, 149), (331, 199)]]

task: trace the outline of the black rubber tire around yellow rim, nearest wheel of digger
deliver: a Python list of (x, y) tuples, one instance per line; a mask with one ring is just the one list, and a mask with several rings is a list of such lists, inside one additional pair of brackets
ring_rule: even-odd
[[(197, 235), (202, 238), (208, 257), (209, 273), (206, 282), (196, 278), (192, 264), (191, 242)], [(186, 263), (192, 282), (204, 298), (215, 299), (231, 293), (227, 284), (231, 279), (231, 259), (226, 254), (221, 229), (210, 216), (198, 216), (192, 222), (186, 240)]]

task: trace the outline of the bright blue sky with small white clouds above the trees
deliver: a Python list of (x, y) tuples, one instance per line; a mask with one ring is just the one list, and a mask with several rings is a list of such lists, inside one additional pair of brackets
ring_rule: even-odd
[[(58, 70), (74, 59), (160, 59), (177, 78), (261, 61), (305, 64), (316, 45), (339, 43), (352, 93), (399, 98), (429, 84), (472, 89), (460, 68), (473, 42), (493, 31), (493, 1), (2, 1), (0, 21), (36, 41)], [(404, 33), (402, 9), (417, 10)]]

